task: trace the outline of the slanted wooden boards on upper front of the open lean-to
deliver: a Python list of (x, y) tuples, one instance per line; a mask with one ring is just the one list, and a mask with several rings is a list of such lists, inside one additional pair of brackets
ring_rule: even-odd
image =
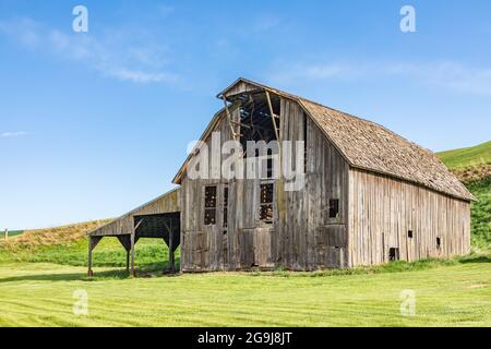
[(180, 212), (181, 205), (179, 191), (180, 189), (175, 189), (92, 231), (89, 234), (92, 237), (130, 234), (133, 231), (134, 216)]

